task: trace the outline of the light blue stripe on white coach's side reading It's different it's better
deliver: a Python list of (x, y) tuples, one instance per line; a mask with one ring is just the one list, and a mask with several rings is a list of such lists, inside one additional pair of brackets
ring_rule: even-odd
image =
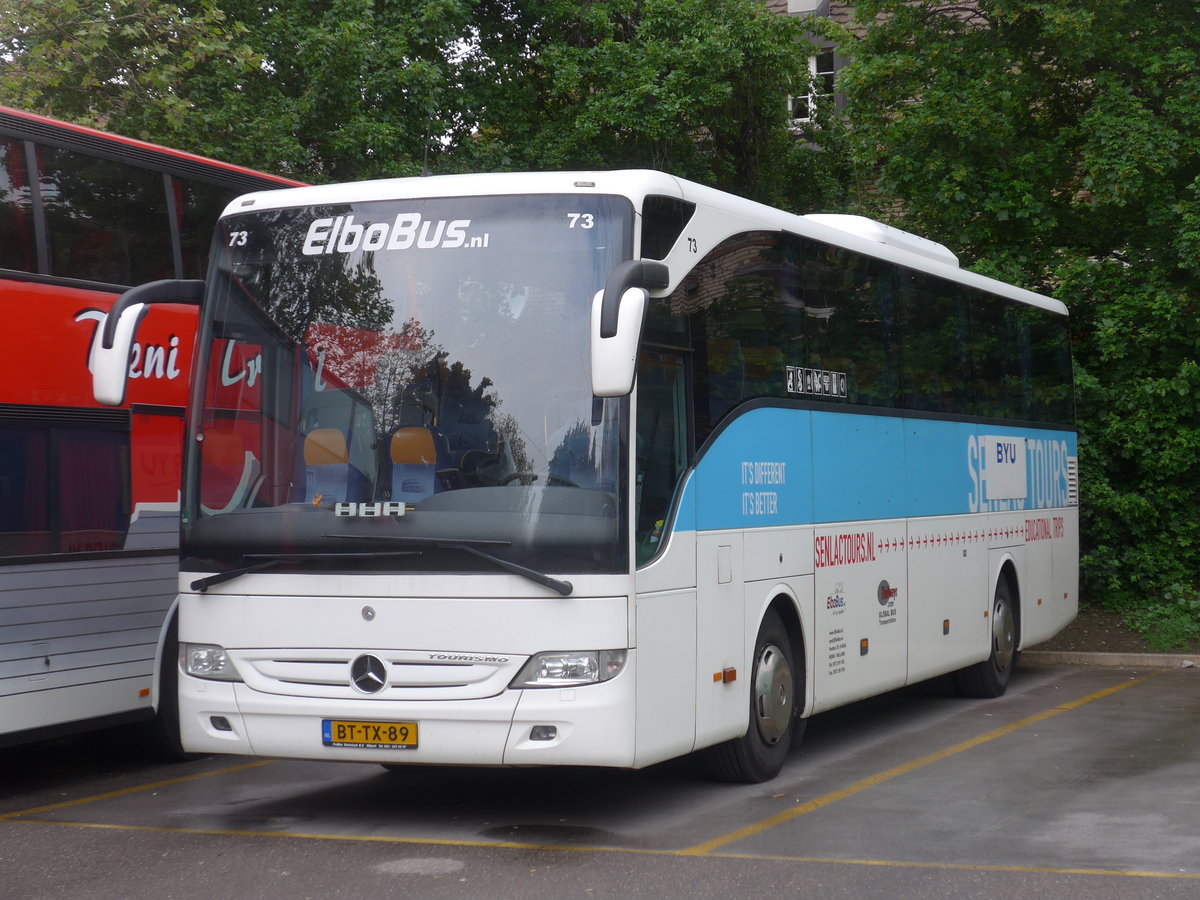
[[(1006, 438), (1013, 439), (1012, 442)], [(1025, 439), (1025, 498), (995, 499)], [(730, 422), (684, 485), (676, 529), (712, 530), (1067, 505), (1067, 431), (758, 408)], [(996, 456), (995, 464), (990, 456)]]

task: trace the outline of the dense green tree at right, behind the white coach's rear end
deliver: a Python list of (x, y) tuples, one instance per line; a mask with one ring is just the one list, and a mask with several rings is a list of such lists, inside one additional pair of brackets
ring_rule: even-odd
[(842, 79), (878, 209), (1070, 307), (1085, 596), (1162, 644), (1200, 635), (1198, 12), (868, 0)]

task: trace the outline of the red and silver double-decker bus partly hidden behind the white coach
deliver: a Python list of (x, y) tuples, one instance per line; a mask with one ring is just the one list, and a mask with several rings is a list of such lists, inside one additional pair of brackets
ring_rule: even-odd
[(172, 740), (196, 307), (149, 313), (121, 407), (92, 400), (89, 354), (130, 286), (204, 277), (229, 200), (296, 184), (0, 107), (0, 304), (22, 336), (0, 350), (0, 746), (156, 710)]

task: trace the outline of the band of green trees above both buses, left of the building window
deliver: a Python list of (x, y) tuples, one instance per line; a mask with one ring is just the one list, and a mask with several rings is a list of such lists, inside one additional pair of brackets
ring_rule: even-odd
[(0, 0), (0, 102), (311, 180), (652, 167), (833, 205), (761, 0)]

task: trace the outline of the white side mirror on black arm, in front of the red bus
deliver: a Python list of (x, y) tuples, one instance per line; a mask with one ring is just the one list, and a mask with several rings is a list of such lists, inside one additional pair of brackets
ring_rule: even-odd
[(88, 356), (91, 368), (91, 392), (97, 403), (119, 407), (125, 402), (130, 355), (138, 325), (150, 304), (190, 304), (199, 306), (204, 296), (203, 281), (151, 281), (121, 294), (104, 317), (97, 340)]

